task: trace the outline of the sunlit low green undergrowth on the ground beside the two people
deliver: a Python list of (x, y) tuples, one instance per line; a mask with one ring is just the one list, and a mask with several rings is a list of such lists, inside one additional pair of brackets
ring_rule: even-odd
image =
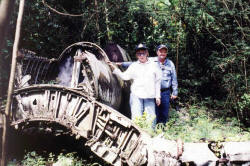
[(144, 114), (136, 120), (136, 124), (152, 136), (159, 134), (166, 139), (181, 138), (184, 142), (207, 141), (249, 141), (250, 128), (243, 126), (235, 117), (226, 116), (218, 110), (207, 107), (191, 106), (179, 111), (170, 110), (170, 118), (166, 124), (157, 124), (155, 130), (150, 128), (151, 122)]

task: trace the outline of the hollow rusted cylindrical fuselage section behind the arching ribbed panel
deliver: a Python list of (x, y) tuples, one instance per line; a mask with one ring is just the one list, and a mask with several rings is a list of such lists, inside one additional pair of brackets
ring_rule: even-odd
[(123, 83), (112, 74), (106, 53), (97, 45), (75, 43), (51, 60), (27, 51), (20, 55), (18, 88), (41, 83), (62, 85), (119, 109)]

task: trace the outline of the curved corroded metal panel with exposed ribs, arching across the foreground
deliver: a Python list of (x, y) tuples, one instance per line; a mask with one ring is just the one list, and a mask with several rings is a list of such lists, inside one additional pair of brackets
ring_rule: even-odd
[(76, 137), (87, 139), (86, 145), (113, 165), (122, 165), (122, 159), (134, 165), (141, 161), (138, 157), (145, 157), (134, 150), (140, 150), (142, 135), (148, 135), (124, 115), (81, 92), (58, 85), (34, 85), (16, 90), (14, 103), (11, 125), (16, 128), (31, 121), (56, 122)]

